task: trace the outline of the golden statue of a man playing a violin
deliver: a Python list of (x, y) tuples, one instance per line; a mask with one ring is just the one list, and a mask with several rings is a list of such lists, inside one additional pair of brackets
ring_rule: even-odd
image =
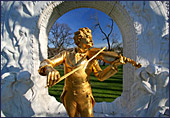
[[(90, 73), (93, 72), (99, 81), (104, 81), (117, 73), (117, 66), (121, 64), (130, 62), (136, 67), (141, 65), (137, 65), (135, 61), (115, 52), (92, 48), (91, 30), (87, 27), (80, 28), (74, 33), (74, 42), (77, 48), (72, 52), (63, 51), (51, 59), (43, 60), (38, 72), (42, 76), (47, 76), (47, 87), (51, 87), (65, 78), (60, 98), (69, 117), (93, 117), (95, 100), (89, 82)], [(102, 70), (97, 59), (110, 65)], [(64, 77), (60, 77), (59, 72), (54, 69), (60, 64), (64, 64), (66, 74)]]

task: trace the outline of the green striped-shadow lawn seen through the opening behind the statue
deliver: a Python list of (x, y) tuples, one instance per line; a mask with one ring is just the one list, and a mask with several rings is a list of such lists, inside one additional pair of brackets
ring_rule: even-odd
[[(101, 66), (104, 69), (107, 66)], [(62, 66), (56, 68), (60, 75), (64, 75), (64, 69)], [(92, 86), (93, 96), (96, 102), (112, 102), (119, 97), (122, 93), (123, 87), (123, 66), (119, 66), (119, 72), (109, 79), (100, 82), (92, 73), (90, 75), (90, 83)], [(49, 94), (54, 96), (57, 101), (61, 102), (60, 95), (63, 91), (64, 80), (49, 88)]]

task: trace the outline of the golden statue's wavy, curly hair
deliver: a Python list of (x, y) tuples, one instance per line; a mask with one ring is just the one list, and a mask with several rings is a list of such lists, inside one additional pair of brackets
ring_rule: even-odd
[(86, 38), (87, 34), (92, 38), (91, 30), (88, 27), (80, 28), (79, 31), (75, 32), (73, 37), (75, 44), (78, 45), (80, 39)]

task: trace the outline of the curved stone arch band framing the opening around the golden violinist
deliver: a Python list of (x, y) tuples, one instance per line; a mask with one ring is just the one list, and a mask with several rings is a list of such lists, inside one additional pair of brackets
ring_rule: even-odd
[[(116, 1), (105, 2), (105, 1), (65, 1), (65, 2), (51, 2), (50, 5), (43, 11), (39, 18), (39, 59), (43, 60), (47, 58), (47, 41), (48, 34), (55, 23), (55, 21), (60, 18), (65, 13), (76, 9), (76, 8), (94, 8), (99, 11), (104, 12), (110, 16), (118, 25), (123, 39), (123, 55), (136, 60), (136, 33), (134, 29), (133, 20), (123, 8), (123, 6)], [(41, 45), (43, 44), (43, 45)], [(46, 47), (44, 47), (46, 45)], [(38, 68), (38, 67), (37, 67)], [(129, 100), (130, 89), (129, 86), (133, 84), (134, 81), (134, 71), (135, 68), (131, 64), (126, 64), (123, 66), (123, 92), (121, 94), (125, 101)]]

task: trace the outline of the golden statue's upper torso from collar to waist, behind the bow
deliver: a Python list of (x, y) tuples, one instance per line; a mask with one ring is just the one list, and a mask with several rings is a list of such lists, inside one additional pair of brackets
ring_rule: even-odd
[[(66, 59), (64, 62), (64, 73), (69, 73), (75, 68), (82, 66), (87, 62), (86, 54), (81, 55), (80, 53), (67, 52)], [(82, 84), (89, 80), (89, 75), (92, 72), (92, 63), (89, 63), (87, 67), (84, 69), (80, 69), (76, 71), (74, 74), (67, 77), (70, 81), (75, 84)], [(67, 80), (66, 79), (66, 80)]]

